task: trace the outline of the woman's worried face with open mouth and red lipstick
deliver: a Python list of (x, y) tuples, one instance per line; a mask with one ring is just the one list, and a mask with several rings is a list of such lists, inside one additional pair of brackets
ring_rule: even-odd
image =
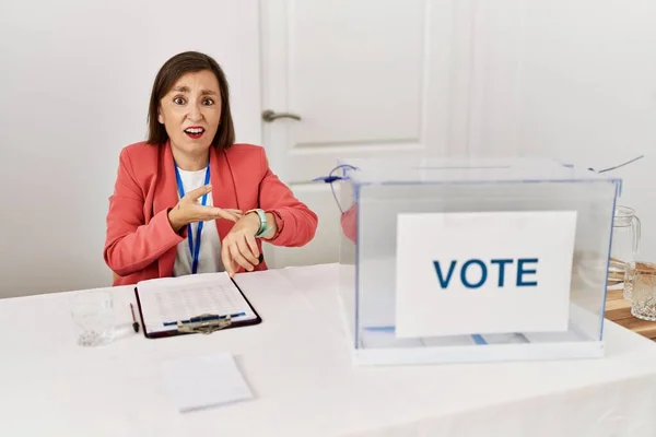
[(202, 70), (183, 75), (160, 101), (157, 119), (173, 147), (191, 155), (207, 151), (221, 119), (221, 93), (214, 73)]

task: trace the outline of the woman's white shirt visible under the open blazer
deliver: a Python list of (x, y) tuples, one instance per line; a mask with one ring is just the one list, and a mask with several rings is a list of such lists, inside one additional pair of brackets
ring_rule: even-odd
[[(183, 187), (185, 188), (185, 193), (204, 185), (204, 168), (198, 172), (186, 172), (183, 169), (179, 169), (179, 172), (180, 179), (183, 180)], [(198, 201), (199, 203), (202, 202), (202, 197), (199, 198)], [(208, 201), (206, 205), (213, 206), (211, 192), (208, 193)], [(191, 223), (191, 232), (194, 233), (194, 245), (196, 245), (198, 223)], [(186, 274), (191, 274), (191, 260), (192, 258), (191, 252), (189, 251), (189, 238), (187, 236), (184, 241), (177, 245), (173, 275), (183, 276)], [(219, 232), (216, 231), (216, 222), (211, 220), (209, 222), (204, 222), (202, 225), (197, 273), (215, 273), (224, 270), (223, 262), (221, 261), (221, 239), (219, 238)]]

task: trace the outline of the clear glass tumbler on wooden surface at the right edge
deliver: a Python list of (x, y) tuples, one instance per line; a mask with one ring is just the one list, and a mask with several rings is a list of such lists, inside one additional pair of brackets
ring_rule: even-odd
[(633, 262), (626, 280), (631, 283), (631, 314), (642, 320), (656, 321), (656, 264)]

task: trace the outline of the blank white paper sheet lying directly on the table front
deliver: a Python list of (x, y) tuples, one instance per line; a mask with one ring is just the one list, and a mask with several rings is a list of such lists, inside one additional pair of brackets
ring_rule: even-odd
[(181, 413), (253, 399), (232, 354), (168, 361), (162, 368), (171, 395)]

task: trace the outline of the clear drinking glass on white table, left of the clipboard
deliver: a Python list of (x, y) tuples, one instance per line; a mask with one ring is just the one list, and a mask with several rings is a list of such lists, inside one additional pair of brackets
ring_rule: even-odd
[(99, 346), (114, 340), (114, 303), (104, 291), (82, 292), (71, 299), (78, 344)]

